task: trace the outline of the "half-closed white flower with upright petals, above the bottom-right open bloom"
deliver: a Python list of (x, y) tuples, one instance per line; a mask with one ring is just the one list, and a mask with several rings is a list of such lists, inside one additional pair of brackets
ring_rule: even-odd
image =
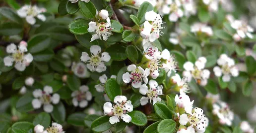
[(185, 111), (189, 114), (192, 114), (192, 106), (194, 103), (194, 100), (190, 101), (190, 97), (186, 94), (180, 94), (180, 96), (175, 96), (175, 102), (178, 105), (179, 108), (184, 108)]

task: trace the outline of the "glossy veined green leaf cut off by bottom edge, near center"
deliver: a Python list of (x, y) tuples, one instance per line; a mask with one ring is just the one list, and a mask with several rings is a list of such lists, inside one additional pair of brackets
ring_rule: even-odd
[(158, 133), (173, 133), (176, 128), (176, 122), (172, 119), (162, 120), (157, 126)]

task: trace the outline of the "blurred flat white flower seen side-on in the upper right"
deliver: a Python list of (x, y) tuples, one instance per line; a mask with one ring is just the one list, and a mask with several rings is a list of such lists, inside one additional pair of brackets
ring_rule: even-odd
[(191, 32), (192, 33), (202, 32), (202, 33), (206, 33), (209, 36), (213, 34), (211, 27), (203, 23), (194, 23), (191, 26)]

